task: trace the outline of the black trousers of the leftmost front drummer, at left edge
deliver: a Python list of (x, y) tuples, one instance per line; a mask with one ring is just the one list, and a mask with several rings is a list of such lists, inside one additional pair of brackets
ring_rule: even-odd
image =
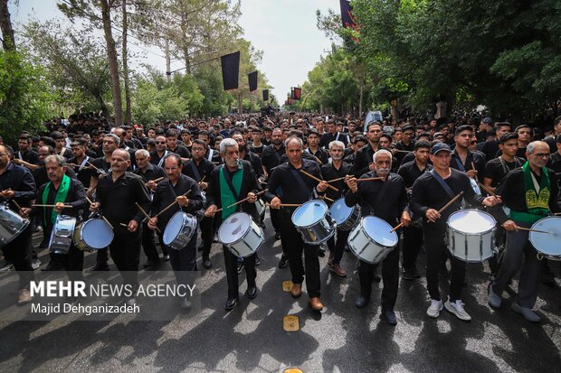
[(29, 289), (29, 282), (33, 280), (31, 258), (33, 247), (31, 245), (33, 224), (29, 224), (9, 244), (2, 247), (5, 259), (14, 265), (19, 275), (19, 289)]

